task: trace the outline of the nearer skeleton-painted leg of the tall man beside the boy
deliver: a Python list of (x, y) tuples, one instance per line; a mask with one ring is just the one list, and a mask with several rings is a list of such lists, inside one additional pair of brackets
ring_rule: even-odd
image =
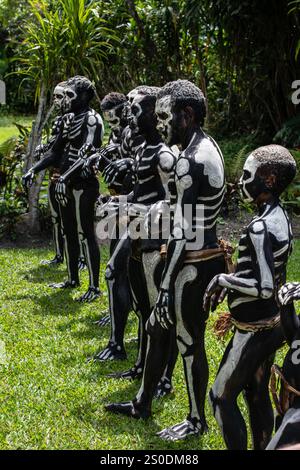
[(223, 269), (223, 259), (210, 260), (185, 265), (177, 276), (174, 289), (176, 335), (183, 359), (190, 411), (183, 422), (158, 433), (162, 439), (176, 441), (207, 431), (204, 411), (208, 383), (204, 343), (207, 316), (202, 304), (208, 283)]

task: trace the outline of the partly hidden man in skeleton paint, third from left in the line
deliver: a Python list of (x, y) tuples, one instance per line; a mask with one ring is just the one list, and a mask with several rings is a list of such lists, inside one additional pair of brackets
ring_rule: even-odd
[[(110, 93), (102, 100), (101, 109), (111, 128), (111, 135), (108, 146), (104, 151), (101, 149), (99, 158), (94, 160), (110, 192), (120, 195), (128, 194), (133, 189), (134, 155), (144, 143), (143, 137), (132, 138), (132, 132), (127, 126), (128, 107), (126, 97), (119, 93)], [(125, 139), (126, 153), (123, 152)], [(110, 260), (105, 276), (109, 292), (109, 316), (99, 321), (99, 325), (103, 326), (111, 320), (111, 334), (107, 346), (95, 356), (100, 361), (126, 358), (124, 331), (132, 308), (128, 280), (130, 253), (129, 240), (111, 240)]]

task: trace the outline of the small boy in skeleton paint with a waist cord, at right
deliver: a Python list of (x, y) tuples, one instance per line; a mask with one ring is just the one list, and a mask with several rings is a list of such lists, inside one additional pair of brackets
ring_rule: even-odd
[(278, 145), (260, 147), (244, 165), (243, 197), (255, 202), (258, 215), (240, 239), (234, 274), (219, 274), (209, 284), (205, 308), (212, 310), (228, 291), (231, 323), (235, 326), (210, 403), (229, 449), (247, 449), (247, 430), (237, 405), (246, 399), (254, 449), (265, 449), (272, 435), (273, 410), (268, 393), (270, 369), (284, 337), (276, 291), (285, 282), (292, 233), (279, 196), (293, 180), (296, 165)]

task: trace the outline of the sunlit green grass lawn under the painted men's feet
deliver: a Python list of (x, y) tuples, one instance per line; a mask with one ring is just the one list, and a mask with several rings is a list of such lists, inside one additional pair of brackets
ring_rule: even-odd
[[(109, 326), (94, 322), (107, 309), (106, 293), (90, 305), (74, 302), (87, 287), (87, 273), (75, 291), (52, 290), (47, 285), (65, 276), (64, 267), (40, 266), (53, 253), (47, 249), (0, 251), (0, 448), (1, 449), (222, 449), (217, 424), (207, 405), (209, 433), (186, 442), (165, 443), (155, 433), (183, 420), (188, 411), (181, 360), (174, 376), (175, 393), (156, 400), (147, 422), (110, 415), (103, 405), (133, 398), (139, 383), (106, 377), (124, 370), (136, 355), (137, 322), (129, 317), (126, 332), (128, 360), (87, 362), (108, 340)], [(300, 242), (289, 265), (289, 279), (299, 280)], [(101, 279), (104, 292), (102, 256)], [(298, 261), (298, 263), (297, 263)], [(223, 306), (226, 308), (226, 306)], [(224, 351), (212, 333), (206, 344), (210, 383)], [(6, 356), (6, 361), (5, 357)], [(277, 361), (281, 362), (282, 352)], [(244, 412), (245, 406), (241, 399)]]

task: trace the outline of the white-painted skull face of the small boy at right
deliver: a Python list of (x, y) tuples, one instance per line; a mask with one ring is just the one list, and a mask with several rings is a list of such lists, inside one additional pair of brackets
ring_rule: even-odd
[(242, 196), (246, 202), (255, 201), (263, 190), (263, 181), (259, 176), (257, 176), (257, 170), (259, 167), (260, 163), (252, 154), (250, 154), (245, 162), (243, 175), (239, 181)]

